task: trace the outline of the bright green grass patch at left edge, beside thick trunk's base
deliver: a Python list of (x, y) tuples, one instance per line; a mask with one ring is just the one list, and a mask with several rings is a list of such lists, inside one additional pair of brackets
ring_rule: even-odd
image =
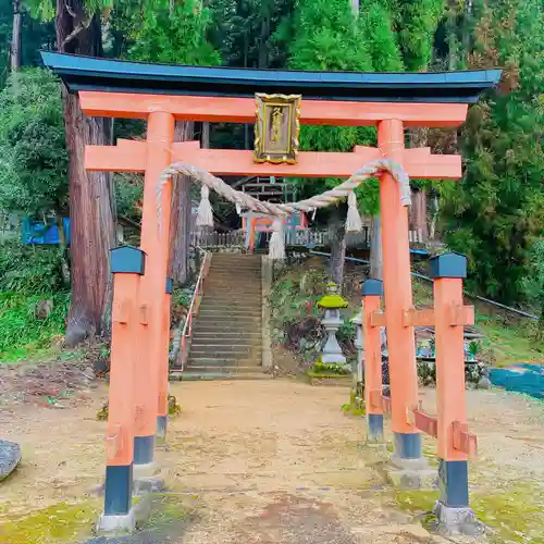
[[(52, 300), (49, 317), (36, 317), (41, 300)], [(14, 362), (46, 355), (54, 339), (64, 333), (69, 293), (22, 295), (0, 293), (0, 362)]]

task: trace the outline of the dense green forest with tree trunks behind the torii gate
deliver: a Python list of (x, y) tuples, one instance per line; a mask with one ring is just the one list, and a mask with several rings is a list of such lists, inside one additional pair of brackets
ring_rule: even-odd
[[(85, 118), (77, 97), (64, 92), (39, 66), (40, 49), (259, 69), (503, 69), (499, 86), (470, 108), (461, 129), (413, 129), (406, 135), (407, 146), (462, 153), (462, 181), (412, 183), (434, 202), (442, 239), (469, 257), (470, 288), (542, 314), (541, 0), (13, 0), (0, 5), (0, 210), (45, 222), (47, 217), (61, 221), (70, 215), (71, 244), (61, 239), (51, 248), (2, 243), (0, 312), (8, 325), (0, 334), (0, 354), (14, 334), (25, 334), (21, 320), (28, 317), (16, 310), (22, 299), (29, 299), (30, 308), (42, 299), (54, 301), (52, 321), (33, 333), (38, 343), (64, 326), (67, 308), (67, 344), (107, 335), (109, 250), (116, 244), (116, 224), (120, 218), (136, 225), (140, 221), (141, 178), (88, 173), (83, 150), (86, 144), (145, 137), (144, 124)], [(180, 122), (176, 138), (247, 149), (252, 127)], [(375, 145), (374, 129), (304, 127), (301, 133), (304, 149), (347, 151), (363, 144)], [(337, 182), (296, 183), (304, 195)], [(190, 251), (182, 221), (193, 196), (183, 176), (175, 186), (171, 268), (183, 285)], [(369, 181), (358, 196), (378, 237), (376, 181)], [(335, 230), (342, 261), (342, 213), (318, 221)], [(372, 273), (381, 273), (379, 251), (372, 255)]]

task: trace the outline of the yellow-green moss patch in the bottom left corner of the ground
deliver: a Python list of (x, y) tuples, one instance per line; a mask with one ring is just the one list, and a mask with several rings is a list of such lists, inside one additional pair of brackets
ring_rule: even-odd
[(98, 519), (97, 500), (50, 506), (29, 516), (2, 521), (0, 542), (9, 544), (65, 544), (90, 534)]

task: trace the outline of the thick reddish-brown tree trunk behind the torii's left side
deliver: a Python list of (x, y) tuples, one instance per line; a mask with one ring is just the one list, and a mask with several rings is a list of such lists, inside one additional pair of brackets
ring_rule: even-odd
[[(89, 16), (83, 0), (57, 0), (59, 51), (99, 57), (102, 53), (98, 16)], [(77, 95), (63, 91), (66, 146), (70, 151), (70, 221), (72, 300), (69, 310), (67, 346), (92, 334), (108, 334), (112, 282), (110, 249), (115, 240), (115, 196), (111, 173), (87, 172), (85, 146), (111, 145), (113, 123), (87, 118)]]

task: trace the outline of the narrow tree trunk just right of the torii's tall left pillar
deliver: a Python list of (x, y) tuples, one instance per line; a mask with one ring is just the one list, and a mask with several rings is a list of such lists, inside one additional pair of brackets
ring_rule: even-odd
[[(177, 121), (175, 141), (186, 141), (195, 135), (193, 122)], [(170, 222), (169, 276), (178, 285), (185, 285), (190, 276), (189, 249), (191, 224), (190, 178), (176, 175), (172, 180), (172, 215)]]

